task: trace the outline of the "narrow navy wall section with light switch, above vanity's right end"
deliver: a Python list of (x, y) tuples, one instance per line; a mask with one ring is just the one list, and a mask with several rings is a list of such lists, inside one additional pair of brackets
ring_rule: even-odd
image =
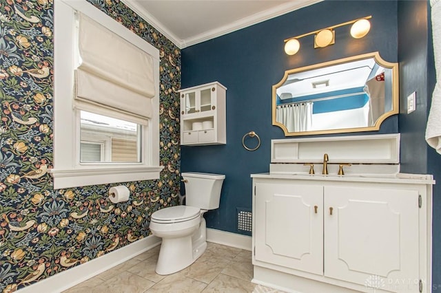
[[(427, 2), (398, 2), (400, 58), (401, 171), (427, 173)], [(416, 91), (416, 111), (407, 114), (407, 96)], [(418, 155), (416, 155), (418, 154)]]

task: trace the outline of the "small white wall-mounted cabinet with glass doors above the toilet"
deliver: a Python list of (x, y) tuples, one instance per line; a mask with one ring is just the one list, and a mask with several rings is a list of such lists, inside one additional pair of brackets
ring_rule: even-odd
[(181, 89), (181, 144), (226, 144), (227, 88), (218, 82)]

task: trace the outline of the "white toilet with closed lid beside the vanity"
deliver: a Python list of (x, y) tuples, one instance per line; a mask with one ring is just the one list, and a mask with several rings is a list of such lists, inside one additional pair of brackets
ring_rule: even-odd
[(225, 175), (182, 173), (185, 206), (157, 210), (150, 219), (150, 230), (163, 242), (159, 251), (157, 274), (172, 274), (191, 265), (207, 248), (203, 213), (219, 207)]

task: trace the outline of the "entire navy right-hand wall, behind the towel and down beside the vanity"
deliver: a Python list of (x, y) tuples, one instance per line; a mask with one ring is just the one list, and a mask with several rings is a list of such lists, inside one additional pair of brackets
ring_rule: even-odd
[[(435, 86), (435, 65), (428, 1), (398, 2), (400, 40), (400, 116), (401, 171), (429, 173), (441, 178), (441, 156), (424, 140), (425, 127)], [(407, 114), (407, 96), (417, 93), (416, 111)], [(441, 185), (433, 186), (432, 292), (441, 292)]]

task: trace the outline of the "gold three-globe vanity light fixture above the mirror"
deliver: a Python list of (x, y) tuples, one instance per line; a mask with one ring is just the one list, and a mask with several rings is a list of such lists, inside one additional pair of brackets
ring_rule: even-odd
[(371, 23), (368, 19), (371, 19), (372, 16), (362, 17), (361, 19), (354, 19), (353, 21), (347, 21), (345, 23), (340, 23), (338, 25), (332, 25), (328, 28), (323, 28), (321, 30), (314, 30), (314, 32), (308, 32), (307, 34), (300, 34), (300, 36), (294, 36), (292, 38), (285, 40), (285, 52), (288, 55), (294, 55), (300, 49), (300, 42), (298, 39), (304, 36), (310, 36), (314, 34), (314, 48), (318, 47), (327, 47), (336, 43), (336, 32), (334, 28), (340, 28), (344, 25), (352, 24), (351, 27), (351, 36), (354, 39), (360, 39), (363, 36), (366, 36), (369, 30), (371, 29)]

